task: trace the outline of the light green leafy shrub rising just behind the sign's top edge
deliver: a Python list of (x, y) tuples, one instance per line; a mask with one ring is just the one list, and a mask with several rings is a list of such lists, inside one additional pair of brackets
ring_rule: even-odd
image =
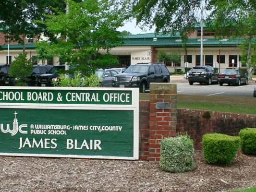
[(59, 76), (60, 82), (53, 82), (55, 86), (60, 87), (98, 87), (100, 79), (96, 74), (84, 76), (81, 72), (74, 72), (74, 77), (71, 78), (66, 74)]

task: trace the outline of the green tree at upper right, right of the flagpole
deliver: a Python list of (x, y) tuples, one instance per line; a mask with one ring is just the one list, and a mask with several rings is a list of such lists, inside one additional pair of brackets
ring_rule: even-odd
[(216, 36), (244, 38), (240, 46), (244, 55), (242, 62), (246, 56), (246, 71), (251, 79), (256, 70), (256, 1), (211, 0), (209, 5), (214, 11), (207, 25), (216, 31)]

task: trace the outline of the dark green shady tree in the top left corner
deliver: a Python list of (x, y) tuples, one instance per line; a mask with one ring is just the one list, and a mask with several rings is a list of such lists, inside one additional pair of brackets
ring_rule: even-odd
[(63, 0), (1, 0), (0, 28), (6, 41), (23, 44), (25, 38), (38, 38), (41, 33), (48, 34), (43, 24), (35, 24), (36, 20), (44, 20), (44, 13), (54, 14), (55, 8), (65, 11)]

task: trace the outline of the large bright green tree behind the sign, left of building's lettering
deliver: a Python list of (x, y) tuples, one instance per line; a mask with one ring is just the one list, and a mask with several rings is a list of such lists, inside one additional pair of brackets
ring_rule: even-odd
[[(120, 6), (110, 0), (78, 3), (68, 0), (67, 3), (67, 14), (48, 14), (45, 21), (39, 22), (56, 36), (56, 41), (46, 48), (48, 54), (65, 60), (74, 70), (87, 74), (97, 68), (118, 64), (117, 57), (111, 56), (109, 51), (122, 45), (117, 28), (129, 18), (126, 4)], [(41, 45), (37, 44), (37, 50), (40, 48)], [(106, 54), (99, 53), (102, 49)]]

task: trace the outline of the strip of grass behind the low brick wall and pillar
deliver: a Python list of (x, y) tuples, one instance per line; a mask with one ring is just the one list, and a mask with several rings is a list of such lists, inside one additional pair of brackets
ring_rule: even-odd
[[(140, 100), (149, 100), (149, 93), (141, 93)], [(177, 95), (177, 108), (256, 115), (256, 97)]]

